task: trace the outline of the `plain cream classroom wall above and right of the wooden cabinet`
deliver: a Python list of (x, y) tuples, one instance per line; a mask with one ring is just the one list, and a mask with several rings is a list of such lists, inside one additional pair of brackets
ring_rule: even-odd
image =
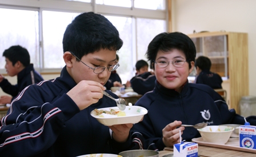
[[(249, 94), (256, 96), (256, 1), (171, 0), (173, 31), (233, 31), (248, 33)], [(242, 55), (242, 52), (241, 52)], [(247, 64), (247, 63), (238, 63)], [(238, 74), (239, 75), (239, 74)], [(241, 82), (242, 83), (242, 82)]]

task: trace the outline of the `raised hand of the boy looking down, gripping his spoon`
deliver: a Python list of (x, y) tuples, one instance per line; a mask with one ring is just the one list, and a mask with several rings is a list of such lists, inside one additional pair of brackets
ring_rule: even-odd
[(82, 80), (67, 95), (77, 104), (80, 110), (85, 109), (93, 103), (97, 103), (103, 96), (105, 88), (101, 83), (92, 80)]

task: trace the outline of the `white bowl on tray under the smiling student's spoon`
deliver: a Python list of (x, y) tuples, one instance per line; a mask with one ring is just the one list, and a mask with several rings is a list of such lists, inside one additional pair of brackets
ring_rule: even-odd
[(198, 131), (203, 138), (203, 142), (225, 144), (234, 128), (229, 126), (206, 126), (199, 128)]

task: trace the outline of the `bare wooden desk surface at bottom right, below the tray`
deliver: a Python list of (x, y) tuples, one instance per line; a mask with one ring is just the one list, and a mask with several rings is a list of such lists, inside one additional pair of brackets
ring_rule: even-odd
[[(173, 148), (167, 148), (165, 151), (159, 151), (159, 157), (167, 154), (173, 154)], [(256, 154), (253, 152), (244, 152), (244, 151), (235, 151), (235, 150), (227, 150), (222, 148), (216, 147), (207, 147), (198, 145), (198, 155), (201, 157), (229, 157), (229, 156), (243, 156), (243, 157), (255, 157)]]

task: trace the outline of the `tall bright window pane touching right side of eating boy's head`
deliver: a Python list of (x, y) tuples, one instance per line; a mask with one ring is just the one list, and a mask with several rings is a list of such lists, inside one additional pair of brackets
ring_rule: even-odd
[(117, 52), (119, 57), (120, 67), (117, 69), (117, 73), (122, 80), (122, 84), (125, 84), (127, 80), (133, 77), (133, 57), (132, 57), (132, 29), (131, 18), (127, 17), (113, 17), (105, 16), (119, 31), (120, 38), (123, 40), (122, 48)]

